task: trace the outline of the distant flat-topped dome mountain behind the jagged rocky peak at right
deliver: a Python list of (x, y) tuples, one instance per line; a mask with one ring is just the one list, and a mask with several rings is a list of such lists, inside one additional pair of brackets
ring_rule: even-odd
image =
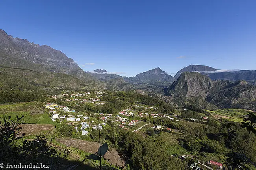
[(187, 67), (182, 68), (180, 71), (178, 71), (176, 73), (176, 75), (174, 75), (174, 78), (178, 78), (181, 73), (183, 72), (193, 72), (193, 71), (216, 71), (217, 69), (209, 67), (209, 66), (202, 66), (202, 65), (189, 65)]

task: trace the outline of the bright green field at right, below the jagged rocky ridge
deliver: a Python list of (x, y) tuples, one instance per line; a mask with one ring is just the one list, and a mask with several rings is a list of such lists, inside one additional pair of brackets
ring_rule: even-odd
[(234, 122), (243, 121), (244, 115), (246, 115), (249, 112), (252, 112), (251, 110), (245, 109), (218, 109), (215, 111), (205, 111), (211, 113), (211, 115), (217, 119), (224, 118)]

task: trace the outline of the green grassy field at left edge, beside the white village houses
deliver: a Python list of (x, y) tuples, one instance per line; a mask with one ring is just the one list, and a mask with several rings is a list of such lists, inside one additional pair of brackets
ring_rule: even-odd
[(24, 123), (29, 124), (55, 124), (50, 119), (48, 113), (45, 113), (42, 102), (22, 102), (15, 104), (1, 104), (0, 117), (4, 115), (15, 119), (17, 115), (24, 115)]

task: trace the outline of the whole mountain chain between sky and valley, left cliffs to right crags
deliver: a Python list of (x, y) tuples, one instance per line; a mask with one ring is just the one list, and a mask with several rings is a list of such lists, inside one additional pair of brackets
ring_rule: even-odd
[(202, 108), (256, 109), (256, 89), (253, 85), (256, 82), (256, 71), (221, 70), (189, 65), (180, 69), (174, 77), (159, 67), (139, 73), (135, 77), (122, 77), (102, 68), (85, 72), (61, 51), (13, 38), (2, 29), (0, 76), (2, 89), (13, 84), (13, 88), (19, 87), (17, 90), (45, 90), (56, 86), (142, 90), (144, 93), (165, 95), (156, 96), (166, 100), (166, 96), (170, 96), (168, 100), (177, 106), (193, 103)]

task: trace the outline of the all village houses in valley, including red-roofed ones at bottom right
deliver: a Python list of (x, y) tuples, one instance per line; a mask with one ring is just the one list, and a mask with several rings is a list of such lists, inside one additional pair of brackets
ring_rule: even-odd
[[(163, 121), (172, 122), (205, 122), (208, 117), (187, 117), (182, 119), (179, 114), (187, 112), (187, 109), (179, 110), (180, 113), (173, 115), (160, 113), (157, 106), (150, 106), (145, 104), (132, 104), (123, 108), (119, 112), (115, 113), (102, 113), (98, 112), (82, 112), (79, 110), (79, 106), (89, 104), (90, 106), (103, 106), (107, 101), (103, 101), (102, 96), (108, 96), (105, 91), (94, 91), (86, 93), (63, 93), (61, 95), (53, 95), (52, 99), (55, 101), (61, 101), (60, 104), (55, 102), (47, 102), (45, 104), (45, 111), (53, 122), (64, 122), (69, 126), (72, 126), (77, 135), (89, 136), (94, 130), (103, 130), (106, 126), (109, 126), (111, 122), (114, 126), (121, 128), (122, 130), (131, 130), (136, 133), (141, 131), (146, 126), (146, 131), (142, 130), (140, 133), (150, 133), (150, 129), (154, 133), (162, 131), (165, 135), (175, 135), (181, 133), (177, 129), (173, 129), (162, 124)], [(117, 97), (116, 99), (119, 99)], [(76, 110), (75, 108), (78, 108)], [(157, 123), (156, 123), (157, 122)], [(158, 134), (158, 133), (156, 133)], [(179, 159), (190, 159), (189, 155), (180, 155)], [(222, 164), (209, 161), (208, 164), (216, 165), (222, 168)], [(197, 163), (191, 165), (191, 169), (196, 167)], [(207, 164), (202, 164), (208, 169), (212, 169)]]

